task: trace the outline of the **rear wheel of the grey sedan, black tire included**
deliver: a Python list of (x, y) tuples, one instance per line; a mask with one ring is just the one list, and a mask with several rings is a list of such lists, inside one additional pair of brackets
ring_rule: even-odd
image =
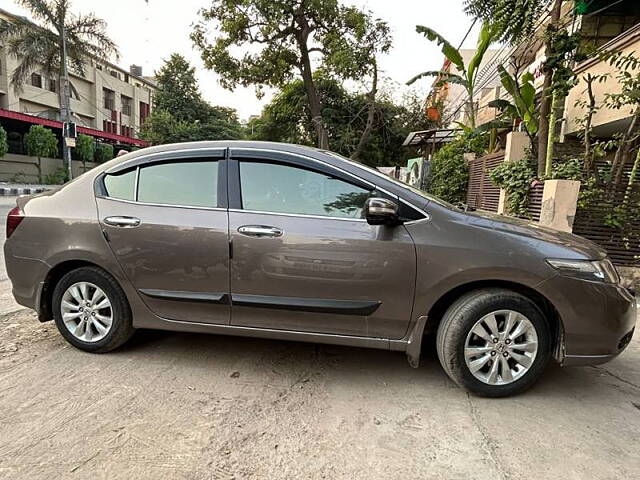
[[(79, 301), (78, 297), (83, 298), (82, 291), (86, 291), (86, 296), (91, 297), (98, 290), (102, 295), (95, 305), (91, 306), (91, 298), (88, 298), (88, 302)], [(87, 305), (82, 306), (83, 303)], [(53, 291), (52, 309), (60, 334), (71, 345), (85, 352), (109, 352), (124, 344), (134, 333), (127, 297), (118, 282), (98, 267), (81, 267), (66, 273)], [(70, 317), (72, 320), (69, 320)], [(106, 320), (109, 318), (110, 323), (107, 324)], [(81, 322), (84, 325), (84, 335), (79, 333), (79, 330), (83, 330)], [(99, 330), (96, 328), (98, 326)]]

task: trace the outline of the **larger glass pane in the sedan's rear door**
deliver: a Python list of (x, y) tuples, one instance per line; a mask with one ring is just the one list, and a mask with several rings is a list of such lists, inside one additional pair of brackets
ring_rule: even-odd
[(140, 168), (138, 201), (216, 207), (218, 205), (218, 163), (189, 161), (160, 163)]

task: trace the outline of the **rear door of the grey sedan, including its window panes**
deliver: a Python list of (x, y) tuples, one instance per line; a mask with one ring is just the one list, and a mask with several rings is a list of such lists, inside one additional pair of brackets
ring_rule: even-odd
[(225, 152), (151, 156), (101, 179), (97, 203), (105, 237), (159, 317), (230, 321)]

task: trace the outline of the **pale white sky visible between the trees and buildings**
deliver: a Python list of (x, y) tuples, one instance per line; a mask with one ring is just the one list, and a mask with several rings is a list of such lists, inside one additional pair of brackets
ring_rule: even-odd
[[(181, 53), (196, 66), (203, 96), (214, 105), (235, 108), (240, 118), (246, 120), (250, 115), (260, 114), (272, 92), (258, 99), (253, 88), (226, 90), (220, 86), (218, 75), (204, 68), (189, 33), (191, 25), (198, 19), (198, 10), (209, 5), (210, 1), (75, 0), (73, 9), (81, 13), (94, 12), (107, 22), (108, 34), (120, 48), (120, 59), (115, 63), (126, 68), (131, 64), (142, 65), (144, 75), (153, 75), (171, 53)], [(391, 27), (393, 48), (380, 59), (380, 65), (384, 76), (389, 79), (389, 88), (397, 98), (409, 89), (405, 83), (415, 74), (438, 70), (442, 66), (440, 50), (416, 33), (416, 24), (434, 28), (457, 46), (472, 23), (462, 11), (463, 0), (342, 1), (370, 10)], [(0, 7), (29, 16), (26, 9), (12, 0), (0, 0)], [(463, 46), (472, 48), (475, 38), (476, 33), (472, 32)], [(424, 79), (412, 88), (425, 93), (429, 84), (429, 80)]]

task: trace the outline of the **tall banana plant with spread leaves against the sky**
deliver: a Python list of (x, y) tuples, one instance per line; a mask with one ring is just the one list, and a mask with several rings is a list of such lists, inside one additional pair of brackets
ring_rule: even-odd
[(460, 50), (455, 48), (446, 38), (440, 35), (435, 30), (422, 25), (416, 26), (416, 32), (423, 34), (429, 41), (436, 42), (442, 47), (442, 53), (444, 56), (456, 67), (459, 74), (455, 74), (446, 70), (435, 70), (422, 72), (413, 77), (407, 82), (407, 85), (411, 85), (415, 81), (423, 77), (436, 77), (437, 81), (435, 86), (441, 86), (446, 83), (456, 83), (462, 85), (467, 91), (467, 109), (469, 114), (469, 127), (475, 128), (476, 126), (476, 104), (475, 93), (476, 84), (478, 79), (478, 72), (480, 70), (480, 64), (487, 53), (487, 50), (494, 43), (501, 34), (500, 29), (491, 23), (485, 23), (482, 25), (480, 34), (478, 35), (478, 43), (476, 46), (476, 52), (466, 65)]

